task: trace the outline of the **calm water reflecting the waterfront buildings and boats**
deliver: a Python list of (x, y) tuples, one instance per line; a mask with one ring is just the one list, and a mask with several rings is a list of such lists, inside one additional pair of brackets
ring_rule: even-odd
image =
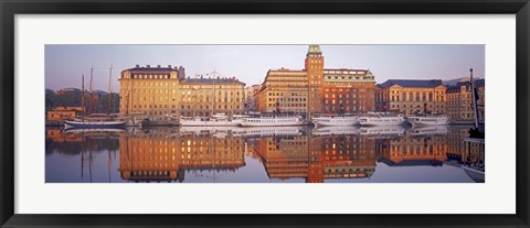
[(474, 183), (470, 127), (46, 128), (46, 183)]

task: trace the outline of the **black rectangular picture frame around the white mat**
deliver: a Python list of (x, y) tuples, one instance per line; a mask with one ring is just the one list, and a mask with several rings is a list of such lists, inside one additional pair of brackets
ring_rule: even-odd
[[(0, 0), (1, 227), (530, 227), (528, 0)], [(21, 215), (14, 214), (17, 14), (516, 14), (517, 208), (513, 215)], [(465, 35), (465, 34), (462, 34)], [(443, 203), (443, 202), (441, 202)], [(434, 205), (433, 205), (434, 206)]]

